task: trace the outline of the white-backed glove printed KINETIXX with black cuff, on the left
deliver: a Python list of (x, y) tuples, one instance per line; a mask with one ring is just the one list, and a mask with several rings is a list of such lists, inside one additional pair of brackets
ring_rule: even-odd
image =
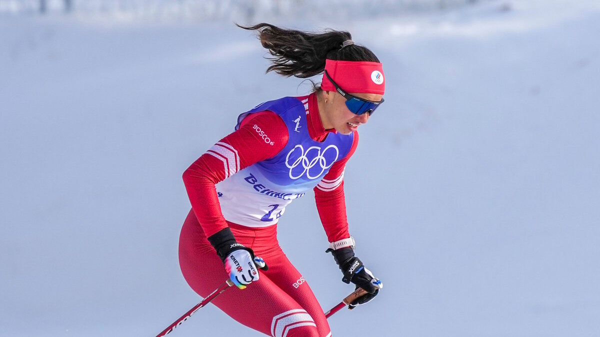
[(265, 261), (254, 256), (254, 251), (235, 240), (230, 228), (224, 228), (208, 237), (217, 251), (231, 281), (240, 289), (260, 278), (257, 268), (268, 270)]

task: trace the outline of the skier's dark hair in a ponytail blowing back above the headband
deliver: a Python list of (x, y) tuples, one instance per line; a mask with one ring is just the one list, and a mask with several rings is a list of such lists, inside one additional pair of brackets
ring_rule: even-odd
[(273, 56), (269, 58), (273, 64), (267, 68), (267, 73), (275, 71), (283, 76), (305, 79), (323, 73), (325, 59), (379, 62), (367, 47), (351, 44), (342, 48), (344, 41), (352, 40), (352, 35), (346, 31), (328, 29), (324, 32), (303, 32), (279, 28), (269, 23), (250, 27), (236, 26), (258, 31), (260, 43)]

